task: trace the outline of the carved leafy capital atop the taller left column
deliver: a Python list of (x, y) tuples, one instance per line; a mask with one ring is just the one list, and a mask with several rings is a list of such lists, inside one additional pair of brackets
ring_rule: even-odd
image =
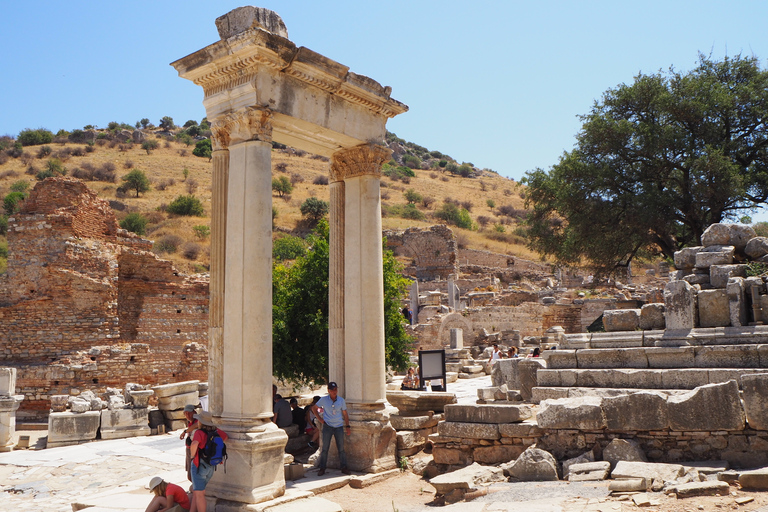
[(228, 149), (230, 144), (249, 140), (272, 142), (272, 111), (246, 107), (222, 114), (211, 124), (213, 149)]

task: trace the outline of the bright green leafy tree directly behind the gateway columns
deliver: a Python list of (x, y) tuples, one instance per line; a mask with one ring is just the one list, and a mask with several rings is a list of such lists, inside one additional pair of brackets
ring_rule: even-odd
[[(279, 379), (324, 384), (328, 378), (328, 224), (320, 222), (311, 249), (291, 267), (276, 264), (272, 279), (272, 357)], [(400, 313), (409, 281), (392, 253), (384, 255), (386, 364), (404, 370), (412, 340)]]

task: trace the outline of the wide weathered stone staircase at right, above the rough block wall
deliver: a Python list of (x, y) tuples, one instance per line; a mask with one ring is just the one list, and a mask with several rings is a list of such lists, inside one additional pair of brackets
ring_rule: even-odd
[(531, 401), (617, 396), (655, 390), (680, 394), (705, 384), (768, 373), (768, 326), (566, 335), (542, 352)]

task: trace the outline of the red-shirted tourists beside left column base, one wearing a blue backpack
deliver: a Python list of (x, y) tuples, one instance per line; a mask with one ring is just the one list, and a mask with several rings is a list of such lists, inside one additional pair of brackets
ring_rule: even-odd
[(156, 476), (149, 481), (149, 490), (155, 497), (146, 512), (164, 512), (176, 505), (190, 512), (205, 512), (205, 488), (213, 476), (214, 464), (206, 460), (203, 450), (209, 438), (218, 436), (223, 443), (228, 436), (213, 424), (211, 413), (196, 412), (194, 405), (184, 407), (184, 418), (187, 427), (181, 431), (179, 439), (185, 439), (186, 443), (184, 465), (187, 478), (192, 482), (191, 493)]

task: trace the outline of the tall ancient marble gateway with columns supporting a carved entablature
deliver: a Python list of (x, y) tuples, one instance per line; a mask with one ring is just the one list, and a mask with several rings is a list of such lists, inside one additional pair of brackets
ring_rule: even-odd
[(174, 63), (203, 87), (213, 131), (210, 409), (230, 434), (216, 498), (285, 490), (286, 435), (272, 416), (272, 141), (331, 158), (330, 378), (349, 404), (351, 469), (394, 467), (385, 411), (381, 144), (407, 107), (389, 87), (288, 40), (272, 11), (218, 18), (221, 40)]

